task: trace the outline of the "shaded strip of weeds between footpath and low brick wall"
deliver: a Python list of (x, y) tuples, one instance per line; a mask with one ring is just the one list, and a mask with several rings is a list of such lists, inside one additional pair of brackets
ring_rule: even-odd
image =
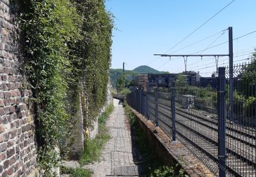
[(145, 135), (143, 129), (141, 129), (136, 116), (132, 113), (130, 108), (125, 105), (126, 116), (130, 120), (130, 125), (134, 129), (134, 134), (136, 137), (135, 144), (143, 157), (143, 165), (145, 166), (145, 176), (150, 177), (165, 177), (165, 176), (187, 176), (183, 169), (180, 169), (179, 164), (173, 166), (168, 166), (163, 164), (154, 150), (150, 146), (150, 142)]

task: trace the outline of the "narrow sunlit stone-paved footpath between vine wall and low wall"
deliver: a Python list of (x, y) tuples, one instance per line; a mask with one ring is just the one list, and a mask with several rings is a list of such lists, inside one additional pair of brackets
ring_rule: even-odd
[[(140, 161), (136, 148), (132, 148), (130, 123), (128, 122), (122, 103), (113, 100), (115, 109), (107, 120), (111, 140), (107, 142), (99, 163), (84, 165), (83, 167), (94, 171), (92, 176), (139, 176)], [(138, 157), (139, 156), (139, 157)]]

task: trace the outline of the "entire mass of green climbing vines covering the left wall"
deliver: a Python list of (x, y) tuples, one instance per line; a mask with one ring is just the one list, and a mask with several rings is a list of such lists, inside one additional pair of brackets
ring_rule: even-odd
[(55, 176), (61, 138), (79, 106), (91, 126), (106, 101), (112, 17), (103, 0), (13, 1), (21, 29), (25, 75), (32, 90), (38, 165)]

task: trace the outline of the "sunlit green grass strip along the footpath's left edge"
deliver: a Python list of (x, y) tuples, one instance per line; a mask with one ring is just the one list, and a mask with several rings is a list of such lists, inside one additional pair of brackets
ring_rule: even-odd
[(100, 160), (104, 144), (111, 139), (109, 129), (106, 127), (106, 120), (111, 112), (113, 112), (113, 109), (113, 104), (109, 105), (105, 112), (98, 117), (98, 135), (96, 135), (96, 138), (93, 140), (90, 140), (89, 138), (85, 140), (83, 154), (79, 160), (81, 165), (94, 163)]

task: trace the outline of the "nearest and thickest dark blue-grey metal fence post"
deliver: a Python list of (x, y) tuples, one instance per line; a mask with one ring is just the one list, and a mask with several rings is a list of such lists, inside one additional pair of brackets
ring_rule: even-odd
[(218, 160), (219, 176), (226, 176), (225, 67), (218, 68)]

